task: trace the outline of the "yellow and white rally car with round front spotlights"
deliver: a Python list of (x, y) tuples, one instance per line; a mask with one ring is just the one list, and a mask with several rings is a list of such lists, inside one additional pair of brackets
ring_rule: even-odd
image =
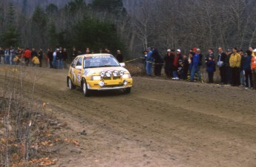
[(133, 80), (124, 66), (110, 54), (79, 55), (70, 65), (68, 88), (81, 86), (85, 96), (90, 95), (91, 90), (122, 89), (130, 93)]

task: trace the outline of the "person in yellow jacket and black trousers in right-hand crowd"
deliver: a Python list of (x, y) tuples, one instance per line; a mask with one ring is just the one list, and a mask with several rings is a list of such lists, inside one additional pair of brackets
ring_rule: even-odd
[(237, 52), (237, 48), (233, 48), (233, 53), (230, 55), (229, 64), (232, 72), (232, 86), (240, 85), (240, 63), (241, 56)]

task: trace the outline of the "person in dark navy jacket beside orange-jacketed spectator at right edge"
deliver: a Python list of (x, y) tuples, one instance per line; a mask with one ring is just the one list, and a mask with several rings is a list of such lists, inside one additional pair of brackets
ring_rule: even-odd
[[(248, 89), (249, 86), (253, 87), (251, 63), (252, 63), (252, 51), (247, 50), (246, 56), (244, 57), (244, 61), (243, 61), (243, 71), (246, 77), (246, 89)], [(249, 85), (249, 81), (250, 81), (250, 85)]]

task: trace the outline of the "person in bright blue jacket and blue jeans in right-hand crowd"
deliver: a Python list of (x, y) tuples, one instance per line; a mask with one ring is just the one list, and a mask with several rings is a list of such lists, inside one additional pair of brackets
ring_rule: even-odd
[(190, 81), (194, 82), (194, 75), (195, 73), (197, 73), (197, 77), (199, 79), (199, 81), (201, 81), (201, 74), (200, 74), (200, 69), (199, 69), (199, 63), (200, 63), (200, 56), (197, 53), (197, 48), (194, 47), (193, 48), (193, 57), (192, 57), (192, 67), (191, 67), (191, 78)]

